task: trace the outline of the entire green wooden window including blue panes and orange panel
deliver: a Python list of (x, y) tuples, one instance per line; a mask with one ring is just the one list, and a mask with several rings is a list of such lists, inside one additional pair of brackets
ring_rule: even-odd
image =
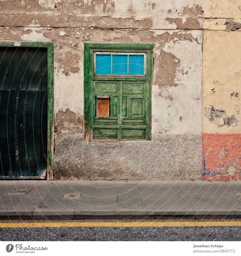
[(152, 44), (85, 44), (87, 141), (150, 140), (152, 48)]

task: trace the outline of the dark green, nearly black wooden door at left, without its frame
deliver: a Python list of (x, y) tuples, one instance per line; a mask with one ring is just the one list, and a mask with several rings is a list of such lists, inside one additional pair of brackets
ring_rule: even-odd
[(47, 49), (0, 47), (0, 178), (45, 178)]

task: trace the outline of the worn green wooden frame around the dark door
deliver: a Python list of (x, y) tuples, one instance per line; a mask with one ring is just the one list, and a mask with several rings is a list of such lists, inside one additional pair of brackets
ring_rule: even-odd
[(44, 179), (53, 180), (53, 152), (54, 152), (54, 44), (45, 42), (6, 42), (0, 41), (1, 46), (9, 47), (45, 47), (48, 58), (48, 142), (47, 142), (47, 175)]

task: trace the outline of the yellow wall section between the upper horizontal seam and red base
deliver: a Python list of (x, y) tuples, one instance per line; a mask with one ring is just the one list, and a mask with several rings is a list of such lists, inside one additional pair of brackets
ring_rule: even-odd
[(240, 133), (241, 31), (204, 30), (203, 133)]

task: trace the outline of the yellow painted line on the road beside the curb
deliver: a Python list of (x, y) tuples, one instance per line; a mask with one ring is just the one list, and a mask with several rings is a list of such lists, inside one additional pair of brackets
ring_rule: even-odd
[(58, 227), (210, 227), (241, 226), (240, 221), (207, 222), (34, 222), (0, 223), (0, 228), (58, 228)]

